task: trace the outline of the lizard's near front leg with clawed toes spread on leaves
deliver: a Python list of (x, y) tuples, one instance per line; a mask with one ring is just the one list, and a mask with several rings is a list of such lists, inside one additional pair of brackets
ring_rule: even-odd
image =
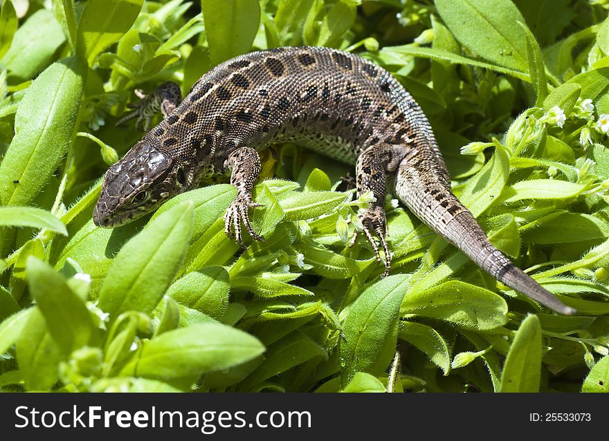
[(230, 183), (237, 188), (237, 198), (233, 200), (224, 214), (224, 232), (228, 237), (233, 237), (231, 229), (235, 229), (235, 241), (245, 247), (241, 232), (241, 223), (245, 225), (250, 236), (256, 241), (264, 241), (257, 234), (251, 224), (248, 209), (262, 207), (256, 204), (252, 198), (254, 182), (260, 175), (260, 156), (255, 149), (241, 147), (230, 153), (224, 162), (224, 169), (230, 170)]

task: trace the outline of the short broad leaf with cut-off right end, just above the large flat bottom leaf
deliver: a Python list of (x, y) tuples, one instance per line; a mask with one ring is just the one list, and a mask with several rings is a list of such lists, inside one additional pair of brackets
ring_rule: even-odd
[(167, 295), (188, 308), (221, 320), (228, 306), (228, 272), (220, 266), (201, 268), (175, 281)]

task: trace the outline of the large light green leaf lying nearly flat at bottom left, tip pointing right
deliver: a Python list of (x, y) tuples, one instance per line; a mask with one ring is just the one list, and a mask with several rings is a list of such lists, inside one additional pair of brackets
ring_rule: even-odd
[(255, 337), (217, 323), (165, 332), (145, 341), (120, 375), (179, 378), (227, 369), (264, 352)]

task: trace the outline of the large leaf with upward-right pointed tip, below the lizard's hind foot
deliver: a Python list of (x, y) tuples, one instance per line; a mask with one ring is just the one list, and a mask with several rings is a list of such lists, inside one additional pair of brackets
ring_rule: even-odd
[(349, 308), (340, 341), (343, 384), (356, 372), (382, 375), (395, 352), (399, 306), (410, 275), (397, 274), (374, 283)]

